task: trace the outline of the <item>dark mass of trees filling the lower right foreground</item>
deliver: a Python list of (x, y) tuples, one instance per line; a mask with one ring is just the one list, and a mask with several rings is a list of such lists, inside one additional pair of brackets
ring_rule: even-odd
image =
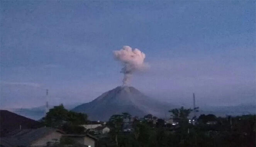
[[(255, 115), (222, 118), (214, 115), (201, 115), (198, 119), (202, 123), (189, 124), (187, 117), (191, 109), (173, 109), (174, 118), (178, 118), (179, 125), (164, 125), (164, 120), (152, 126), (146, 120), (133, 122), (133, 132), (125, 133), (116, 130), (118, 144), (115, 137), (99, 140), (99, 147), (255, 147)], [(122, 115), (113, 115), (111, 123), (122, 125)], [(152, 116), (153, 118), (153, 116)], [(231, 121), (230, 121), (231, 119)], [(214, 125), (205, 122), (216, 121)], [(232, 122), (232, 123), (231, 123)]]

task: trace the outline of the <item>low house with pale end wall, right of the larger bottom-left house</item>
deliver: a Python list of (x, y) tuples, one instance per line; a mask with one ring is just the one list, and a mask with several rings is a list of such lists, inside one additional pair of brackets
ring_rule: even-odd
[(88, 147), (97, 146), (98, 139), (90, 134), (65, 134), (64, 136)]

